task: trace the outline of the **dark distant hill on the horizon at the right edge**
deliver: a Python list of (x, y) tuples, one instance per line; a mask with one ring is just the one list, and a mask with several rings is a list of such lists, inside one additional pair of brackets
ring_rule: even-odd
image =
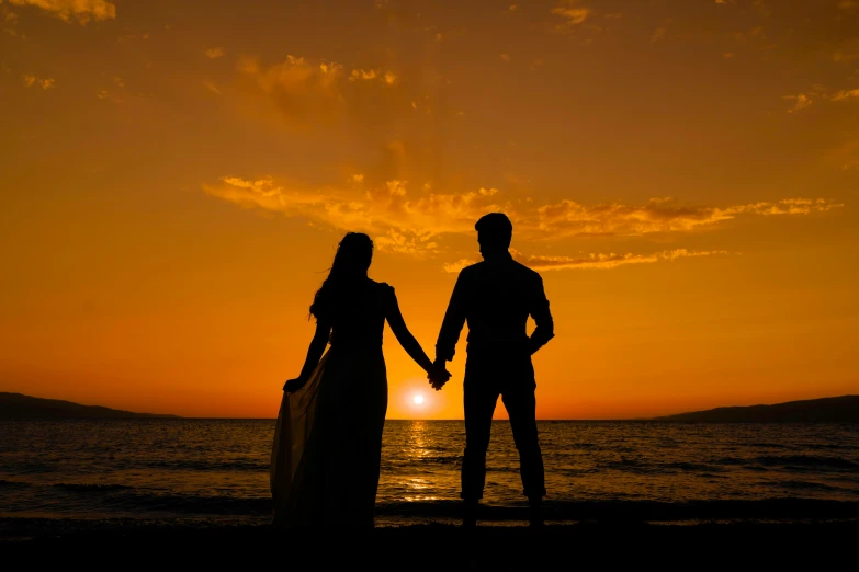
[(653, 417), (654, 421), (828, 421), (859, 422), (859, 396), (806, 399), (772, 405), (715, 408)]

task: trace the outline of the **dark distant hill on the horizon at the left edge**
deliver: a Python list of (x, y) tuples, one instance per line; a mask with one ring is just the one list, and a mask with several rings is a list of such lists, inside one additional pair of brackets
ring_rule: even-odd
[(22, 393), (0, 392), (0, 421), (34, 419), (180, 419), (179, 415), (132, 413), (100, 405), (81, 405), (71, 401), (43, 399)]

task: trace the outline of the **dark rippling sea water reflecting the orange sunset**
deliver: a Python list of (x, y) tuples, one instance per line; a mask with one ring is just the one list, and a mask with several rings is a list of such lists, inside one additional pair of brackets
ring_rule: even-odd
[[(541, 421), (549, 522), (859, 517), (859, 424)], [(273, 420), (0, 422), (0, 517), (270, 520)], [(459, 514), (462, 421), (387, 421), (380, 526)], [(343, 474), (348, 485), (349, 474)], [(524, 518), (493, 424), (482, 519)]]

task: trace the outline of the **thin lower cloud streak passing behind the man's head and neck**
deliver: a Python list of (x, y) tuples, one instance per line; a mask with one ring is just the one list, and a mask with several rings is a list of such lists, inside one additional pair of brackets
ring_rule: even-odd
[[(510, 253), (513, 260), (520, 264), (524, 264), (529, 268), (536, 271), (550, 271), (550, 270), (610, 270), (617, 268), (625, 264), (653, 264), (654, 262), (668, 261), (672, 262), (677, 259), (699, 258), (699, 256), (714, 256), (719, 254), (727, 254), (726, 250), (687, 250), (675, 249), (664, 250), (653, 254), (588, 254), (587, 256), (541, 256), (523, 254), (516, 249), (510, 249)], [(450, 264), (443, 264), (444, 272), (457, 273), (465, 266), (474, 264), (476, 261), (470, 259), (462, 259)]]

